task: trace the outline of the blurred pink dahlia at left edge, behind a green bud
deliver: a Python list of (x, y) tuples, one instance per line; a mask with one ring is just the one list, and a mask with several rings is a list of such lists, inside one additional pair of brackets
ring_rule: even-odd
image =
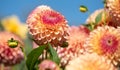
[(3, 63), (5, 65), (14, 65), (20, 63), (24, 58), (23, 53), (20, 49), (21, 44), (18, 43), (18, 46), (16, 48), (9, 47), (8, 40), (11, 38), (23, 44), (18, 36), (9, 32), (0, 32), (0, 63)]

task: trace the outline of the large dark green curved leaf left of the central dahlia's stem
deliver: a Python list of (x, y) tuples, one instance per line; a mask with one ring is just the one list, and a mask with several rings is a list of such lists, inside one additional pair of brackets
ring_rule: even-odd
[(36, 49), (33, 49), (27, 56), (26, 65), (28, 70), (34, 70), (34, 66), (38, 61), (39, 56), (43, 53), (43, 50), (46, 48), (46, 45), (39, 46)]

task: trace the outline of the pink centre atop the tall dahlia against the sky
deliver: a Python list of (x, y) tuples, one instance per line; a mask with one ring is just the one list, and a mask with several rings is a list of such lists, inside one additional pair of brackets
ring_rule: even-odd
[(46, 24), (58, 24), (62, 22), (64, 17), (56, 11), (45, 11), (42, 14), (42, 22)]

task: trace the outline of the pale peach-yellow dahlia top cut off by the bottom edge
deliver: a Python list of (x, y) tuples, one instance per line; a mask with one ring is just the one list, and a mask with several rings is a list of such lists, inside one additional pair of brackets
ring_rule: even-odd
[(66, 70), (117, 70), (109, 59), (96, 53), (86, 53), (74, 58), (66, 66)]

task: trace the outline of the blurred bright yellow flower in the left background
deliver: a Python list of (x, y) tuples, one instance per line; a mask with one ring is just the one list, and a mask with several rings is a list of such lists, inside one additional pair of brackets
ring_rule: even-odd
[(2, 19), (2, 25), (4, 29), (8, 32), (12, 32), (21, 38), (25, 39), (27, 35), (27, 25), (21, 23), (17, 16), (13, 15)]

